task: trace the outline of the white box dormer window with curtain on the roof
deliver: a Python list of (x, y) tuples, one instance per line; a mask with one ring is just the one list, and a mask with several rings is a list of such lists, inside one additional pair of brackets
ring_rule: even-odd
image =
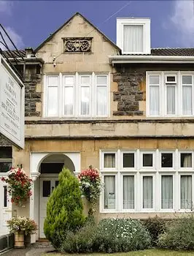
[(117, 18), (117, 45), (123, 54), (150, 54), (150, 19)]

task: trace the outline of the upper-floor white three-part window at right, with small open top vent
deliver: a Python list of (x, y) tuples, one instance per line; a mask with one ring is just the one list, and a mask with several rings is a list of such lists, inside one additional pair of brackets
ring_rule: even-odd
[(147, 116), (193, 116), (194, 72), (147, 72)]

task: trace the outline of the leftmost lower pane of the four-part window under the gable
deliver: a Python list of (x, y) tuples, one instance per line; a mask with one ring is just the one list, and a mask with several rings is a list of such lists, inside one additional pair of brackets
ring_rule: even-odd
[(47, 87), (47, 115), (58, 114), (58, 87)]

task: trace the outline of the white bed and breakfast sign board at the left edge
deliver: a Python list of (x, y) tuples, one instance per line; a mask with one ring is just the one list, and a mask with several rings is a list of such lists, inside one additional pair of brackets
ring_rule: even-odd
[(0, 134), (24, 148), (24, 86), (0, 55)]

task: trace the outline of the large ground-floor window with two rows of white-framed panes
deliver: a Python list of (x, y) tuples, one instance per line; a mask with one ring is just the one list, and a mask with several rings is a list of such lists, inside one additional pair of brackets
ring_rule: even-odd
[(193, 151), (100, 151), (101, 212), (192, 211)]

